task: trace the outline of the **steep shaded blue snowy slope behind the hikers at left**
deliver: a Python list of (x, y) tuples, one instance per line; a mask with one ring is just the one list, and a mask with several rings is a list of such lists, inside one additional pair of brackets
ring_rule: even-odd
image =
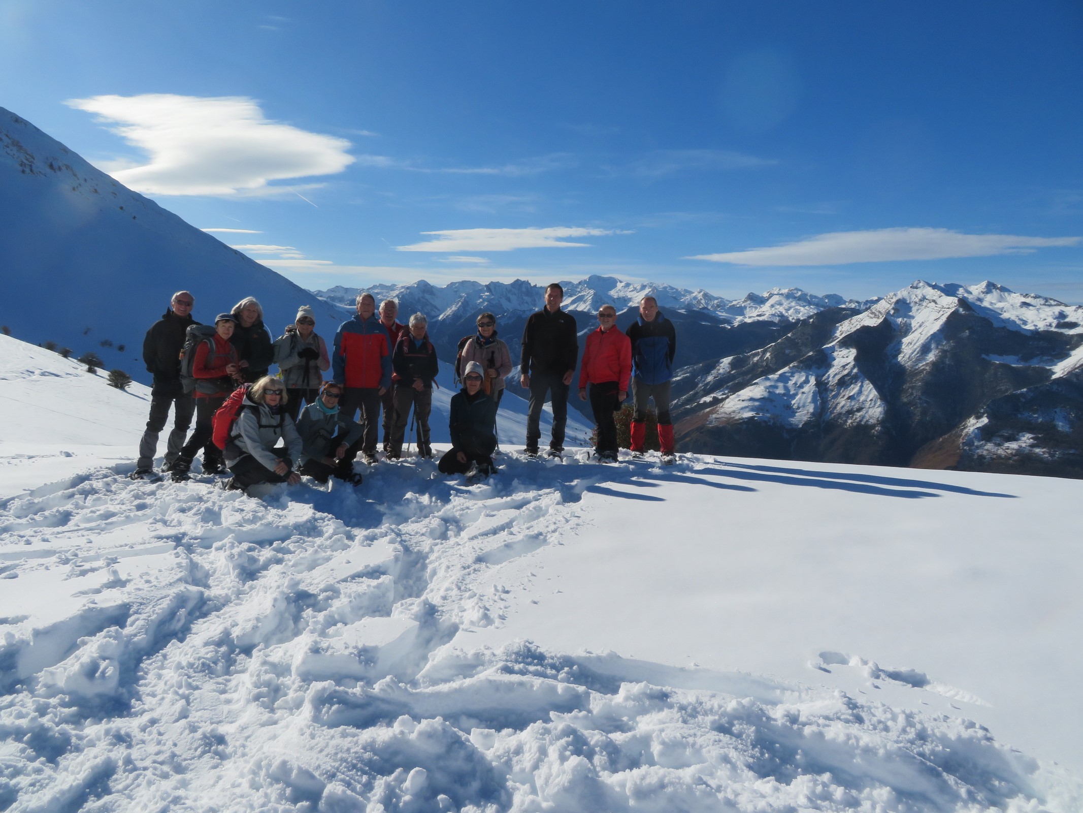
[[(341, 311), (95, 169), (0, 108), (0, 324), (55, 341), (106, 369), (149, 382), (146, 330), (174, 291), (195, 294), (210, 321), (245, 296), (263, 305), (275, 336), (300, 305), (332, 335)], [(108, 344), (103, 344), (108, 343)], [(125, 349), (120, 350), (123, 345)]]

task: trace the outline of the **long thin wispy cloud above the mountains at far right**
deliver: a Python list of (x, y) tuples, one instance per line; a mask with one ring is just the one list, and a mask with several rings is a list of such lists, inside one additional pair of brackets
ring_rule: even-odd
[(963, 234), (949, 229), (874, 229), (832, 232), (781, 246), (702, 254), (686, 259), (729, 262), (734, 266), (841, 266), (850, 262), (1030, 254), (1038, 248), (1079, 245), (1081, 240), (1083, 237)]

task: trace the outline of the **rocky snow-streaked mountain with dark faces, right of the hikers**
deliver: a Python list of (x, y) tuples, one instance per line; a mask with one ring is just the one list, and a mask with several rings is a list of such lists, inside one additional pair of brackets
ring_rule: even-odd
[[(915, 457), (926, 443), (996, 399), (1064, 375), (1083, 344), (1083, 308), (992, 283), (915, 282), (818, 346), (831, 313), (774, 346), (691, 371), (699, 380), (681, 385), (678, 435), (701, 451), (928, 465), (951, 455)], [(1065, 426), (1053, 422), (1053, 431)], [(1070, 457), (1057, 470), (1083, 474)], [(994, 470), (1013, 465), (997, 460)]]

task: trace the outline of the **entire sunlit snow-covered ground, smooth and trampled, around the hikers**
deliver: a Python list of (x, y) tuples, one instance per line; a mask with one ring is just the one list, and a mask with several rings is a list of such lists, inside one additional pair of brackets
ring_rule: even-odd
[(126, 479), (146, 391), (0, 351), (0, 810), (1083, 808), (1078, 480), (506, 455), (257, 500)]

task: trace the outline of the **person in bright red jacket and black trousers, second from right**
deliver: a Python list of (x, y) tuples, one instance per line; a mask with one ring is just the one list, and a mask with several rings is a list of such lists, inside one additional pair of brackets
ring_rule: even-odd
[(616, 308), (603, 305), (598, 311), (598, 330), (587, 336), (579, 366), (579, 398), (587, 400), (590, 384), (590, 409), (598, 426), (595, 451), (602, 463), (617, 459), (616, 422), (613, 413), (628, 397), (631, 377), (631, 340), (616, 326)]

